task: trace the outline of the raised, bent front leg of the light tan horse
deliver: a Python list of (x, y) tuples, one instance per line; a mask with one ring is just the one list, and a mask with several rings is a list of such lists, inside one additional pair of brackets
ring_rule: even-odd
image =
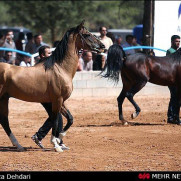
[(67, 124), (65, 125), (63, 131), (60, 133), (60, 137), (62, 138), (63, 136), (66, 135), (67, 130), (73, 124), (73, 116), (71, 115), (70, 111), (65, 107), (64, 104), (61, 107), (61, 113), (67, 119)]

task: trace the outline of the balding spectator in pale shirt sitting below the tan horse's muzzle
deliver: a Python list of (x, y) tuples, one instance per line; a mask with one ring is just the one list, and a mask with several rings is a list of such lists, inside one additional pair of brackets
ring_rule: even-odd
[(80, 70), (93, 70), (92, 52), (84, 51), (82, 57), (79, 58)]

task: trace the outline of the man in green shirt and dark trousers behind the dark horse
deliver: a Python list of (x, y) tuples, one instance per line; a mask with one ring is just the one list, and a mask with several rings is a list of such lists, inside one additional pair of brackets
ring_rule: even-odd
[[(167, 50), (166, 55), (176, 52), (179, 46), (180, 46), (180, 36), (173, 35), (171, 37), (171, 48)], [(167, 112), (168, 116), (167, 122), (181, 125), (181, 120), (179, 118), (180, 104), (178, 101), (177, 89), (175, 86), (169, 86), (168, 88), (170, 90), (170, 102)]]

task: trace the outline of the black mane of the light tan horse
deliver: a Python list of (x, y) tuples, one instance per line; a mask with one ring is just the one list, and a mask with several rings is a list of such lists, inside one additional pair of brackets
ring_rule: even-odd
[(63, 36), (62, 40), (56, 46), (56, 49), (52, 52), (52, 55), (49, 57), (45, 57), (39, 61), (44, 62), (43, 65), (45, 70), (51, 69), (55, 62), (61, 64), (63, 59), (66, 55), (67, 48), (68, 48), (68, 38), (72, 32), (75, 32), (76, 28), (70, 28), (65, 35)]

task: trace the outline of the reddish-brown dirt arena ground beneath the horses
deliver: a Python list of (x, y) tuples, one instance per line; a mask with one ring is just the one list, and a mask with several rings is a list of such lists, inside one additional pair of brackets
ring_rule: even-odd
[(169, 97), (135, 100), (142, 112), (132, 120), (134, 108), (126, 100), (123, 111), (131, 125), (125, 127), (116, 97), (70, 98), (74, 124), (64, 137), (70, 150), (57, 153), (50, 133), (42, 141), (44, 151), (31, 140), (47, 118), (43, 107), (10, 99), (10, 126), (27, 151), (17, 152), (0, 127), (0, 171), (181, 171), (181, 126), (165, 121)]

